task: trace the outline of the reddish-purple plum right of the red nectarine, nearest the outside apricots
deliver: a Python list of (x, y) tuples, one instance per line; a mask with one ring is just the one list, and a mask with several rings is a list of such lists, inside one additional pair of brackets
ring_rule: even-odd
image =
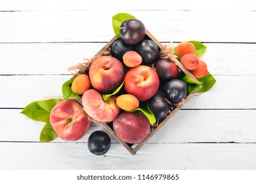
[(156, 63), (156, 73), (158, 73), (160, 80), (172, 80), (177, 78), (179, 69), (173, 61), (160, 59)]

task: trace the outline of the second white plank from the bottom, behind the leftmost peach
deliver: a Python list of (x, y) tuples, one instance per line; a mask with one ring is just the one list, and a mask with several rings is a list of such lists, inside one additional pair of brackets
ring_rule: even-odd
[[(39, 141), (45, 123), (34, 122), (20, 111), (0, 109), (0, 141)], [(255, 110), (180, 110), (148, 143), (256, 142), (256, 124), (251, 120), (255, 118)], [(92, 123), (85, 137), (77, 142), (87, 142), (96, 130), (106, 132), (101, 125)], [(64, 141), (58, 138), (54, 142)]]

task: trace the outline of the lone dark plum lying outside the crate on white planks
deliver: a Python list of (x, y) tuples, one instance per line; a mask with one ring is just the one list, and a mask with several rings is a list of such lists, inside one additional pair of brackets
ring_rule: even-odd
[(89, 151), (95, 155), (104, 155), (111, 146), (111, 139), (104, 131), (94, 131), (88, 139)]

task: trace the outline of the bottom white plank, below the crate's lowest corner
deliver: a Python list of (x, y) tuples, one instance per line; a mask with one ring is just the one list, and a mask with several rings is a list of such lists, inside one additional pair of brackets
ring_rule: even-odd
[(0, 169), (256, 168), (256, 144), (146, 144), (133, 157), (119, 144), (106, 157), (91, 154), (83, 143), (0, 144)]

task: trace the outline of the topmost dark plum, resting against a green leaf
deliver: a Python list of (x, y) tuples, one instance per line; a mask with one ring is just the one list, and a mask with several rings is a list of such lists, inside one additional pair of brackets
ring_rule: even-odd
[(142, 41), (145, 33), (144, 24), (136, 18), (125, 20), (119, 29), (121, 39), (127, 44), (137, 44)]

